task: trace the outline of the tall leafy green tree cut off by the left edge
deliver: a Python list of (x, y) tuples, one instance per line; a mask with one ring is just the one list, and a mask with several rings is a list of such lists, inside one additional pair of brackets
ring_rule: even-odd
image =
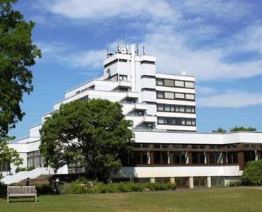
[[(19, 162), (16, 151), (7, 148), (8, 131), (23, 116), (20, 102), (32, 91), (32, 71), (40, 49), (32, 44), (34, 23), (26, 22), (19, 11), (13, 11), (15, 0), (0, 0), (0, 155), (1, 160)], [(14, 161), (13, 161), (14, 160)]]

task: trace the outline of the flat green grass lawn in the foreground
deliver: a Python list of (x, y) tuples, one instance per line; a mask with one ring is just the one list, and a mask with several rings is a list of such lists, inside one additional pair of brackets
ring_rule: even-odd
[(262, 211), (262, 189), (182, 189), (175, 192), (68, 194), (0, 199), (0, 211)]

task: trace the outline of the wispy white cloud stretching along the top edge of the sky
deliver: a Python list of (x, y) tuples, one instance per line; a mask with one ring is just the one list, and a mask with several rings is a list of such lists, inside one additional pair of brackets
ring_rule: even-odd
[(49, 11), (68, 18), (104, 20), (106, 18), (129, 18), (150, 16), (150, 18), (169, 18), (174, 11), (165, 1), (54, 1), (45, 4)]

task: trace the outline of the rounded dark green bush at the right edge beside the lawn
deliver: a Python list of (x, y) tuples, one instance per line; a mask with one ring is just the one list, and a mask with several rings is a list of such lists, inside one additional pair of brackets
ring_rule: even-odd
[(244, 185), (262, 185), (262, 160), (250, 161), (247, 163), (243, 175)]

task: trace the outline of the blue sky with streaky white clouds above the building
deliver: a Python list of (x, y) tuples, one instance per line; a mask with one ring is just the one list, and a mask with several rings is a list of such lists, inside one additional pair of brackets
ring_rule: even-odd
[(13, 6), (33, 20), (42, 58), (32, 67), (34, 91), (10, 135), (53, 110), (66, 90), (102, 73), (107, 47), (145, 46), (157, 72), (196, 76), (199, 132), (253, 126), (262, 131), (262, 1), (30, 1)]

